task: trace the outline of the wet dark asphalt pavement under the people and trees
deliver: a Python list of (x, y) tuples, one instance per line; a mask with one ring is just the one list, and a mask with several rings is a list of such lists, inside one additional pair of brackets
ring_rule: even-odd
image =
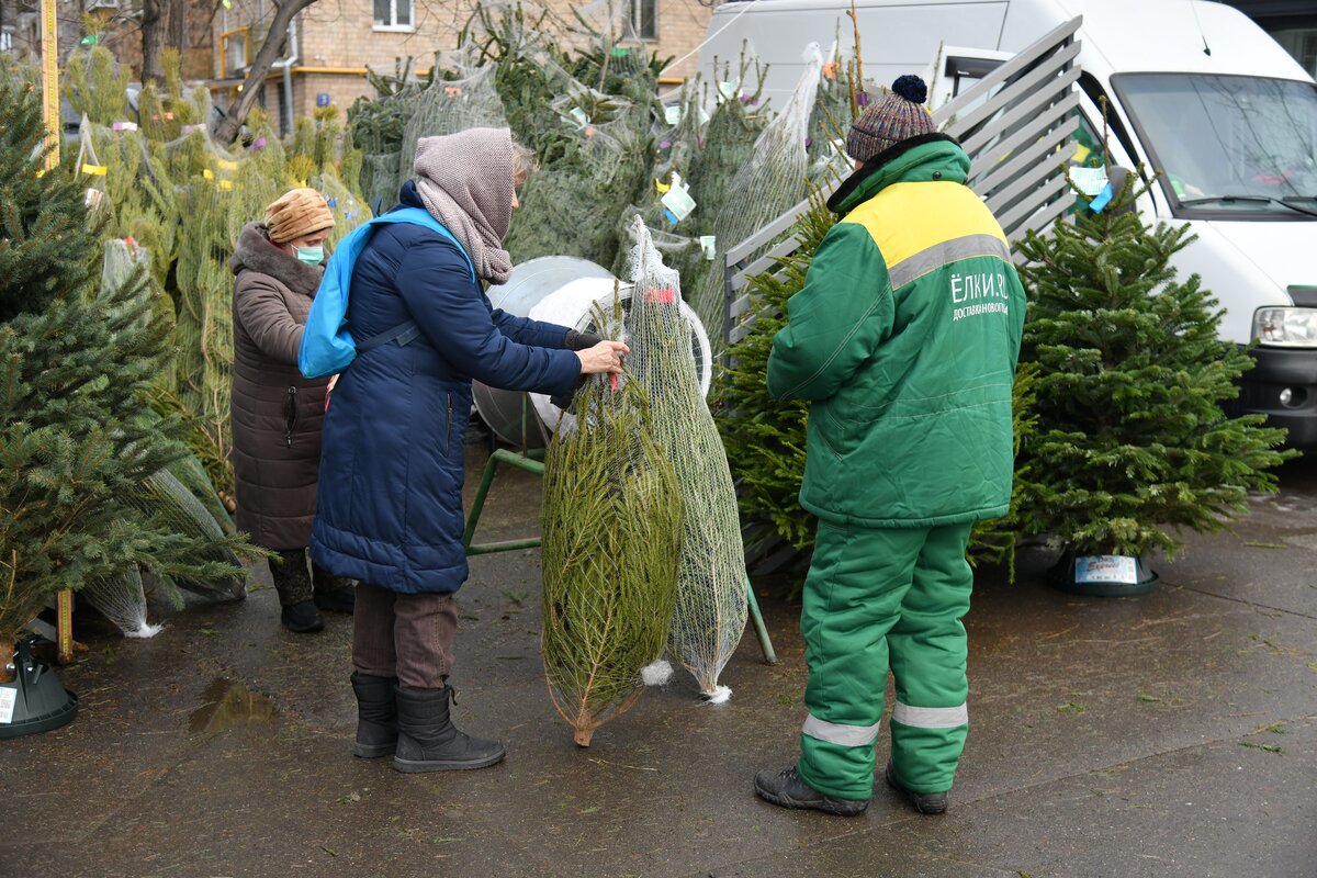
[[(154, 607), (153, 640), (79, 613), (78, 719), (0, 741), (0, 877), (1317, 878), (1317, 461), (1281, 487), (1143, 598), (1054, 591), (1036, 548), (1014, 584), (980, 571), (942, 817), (881, 782), (849, 820), (753, 796), (805, 715), (798, 608), (770, 595), (778, 665), (748, 632), (728, 704), (678, 671), (583, 750), (543, 679), (537, 550), (474, 558), (456, 717), (508, 758), (429, 775), (349, 756), (350, 619), (283, 632), (263, 570), (244, 603)], [(537, 508), (500, 475), (478, 538), (535, 534)]]

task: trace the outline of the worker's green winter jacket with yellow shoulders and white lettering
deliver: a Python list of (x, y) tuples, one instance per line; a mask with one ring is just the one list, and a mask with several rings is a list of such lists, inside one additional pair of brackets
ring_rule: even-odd
[(1010, 504), (1025, 291), (948, 137), (898, 143), (828, 205), (843, 219), (788, 301), (768, 391), (813, 400), (801, 505), (834, 524), (935, 527)]

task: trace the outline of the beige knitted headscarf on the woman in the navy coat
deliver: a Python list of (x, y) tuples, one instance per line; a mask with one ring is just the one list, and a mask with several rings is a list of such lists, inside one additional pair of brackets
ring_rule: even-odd
[(512, 258), (503, 238), (512, 225), (512, 133), (471, 128), (416, 141), (416, 190), (431, 216), (453, 233), (475, 274), (504, 283)]

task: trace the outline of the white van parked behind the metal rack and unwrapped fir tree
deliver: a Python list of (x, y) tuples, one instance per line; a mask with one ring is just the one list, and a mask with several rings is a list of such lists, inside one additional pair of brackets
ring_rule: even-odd
[[(1239, 409), (1270, 415), (1295, 446), (1317, 448), (1317, 83), (1284, 49), (1237, 9), (1197, 0), (856, 5), (865, 79), (919, 72), (932, 101), (1081, 14), (1079, 140), (1100, 140), (1106, 97), (1113, 162), (1163, 171), (1141, 212), (1197, 234), (1177, 257), (1181, 278), (1200, 274), (1220, 299), (1223, 338), (1259, 341)], [(770, 65), (765, 95), (780, 105), (807, 42), (830, 46), (840, 33), (849, 45), (849, 0), (726, 3), (699, 70), (718, 79), (714, 59), (739, 58), (749, 39)]]

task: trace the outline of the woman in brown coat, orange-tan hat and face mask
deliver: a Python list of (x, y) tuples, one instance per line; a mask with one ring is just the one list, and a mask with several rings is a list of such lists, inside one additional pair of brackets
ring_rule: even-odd
[(283, 625), (296, 633), (324, 628), (320, 609), (352, 612), (354, 603), (350, 581), (307, 571), (329, 382), (302, 376), (298, 349), (333, 225), (319, 192), (292, 190), (265, 222), (242, 229), (230, 261), (237, 525), (278, 553), (270, 575)]

